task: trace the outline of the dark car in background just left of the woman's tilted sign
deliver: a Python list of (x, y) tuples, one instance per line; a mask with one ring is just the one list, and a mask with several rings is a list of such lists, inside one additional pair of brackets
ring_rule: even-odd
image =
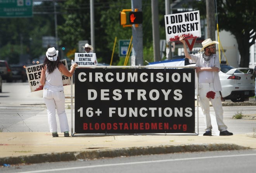
[(10, 68), (12, 70), (13, 81), (21, 80), (22, 82), (26, 82), (28, 80), (26, 69), (23, 67), (23, 65), (11, 64)]

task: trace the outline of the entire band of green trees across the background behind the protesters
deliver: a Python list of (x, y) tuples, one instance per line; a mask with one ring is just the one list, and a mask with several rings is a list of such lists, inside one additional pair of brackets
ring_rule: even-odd
[[(91, 44), (90, 1), (66, 0), (56, 3), (59, 48), (64, 46), (65, 56), (73, 58), (74, 55), (70, 52), (78, 49), (78, 41), (88, 40)], [(184, 8), (190, 5), (188, 1), (181, 3)], [(235, 35), (239, 44), (241, 67), (247, 63), (249, 65), (249, 46), (256, 39), (255, 3), (255, 0), (217, 0), (219, 28)], [(192, 5), (194, 9), (200, 10), (201, 17), (206, 17), (205, 0), (196, 0)], [(131, 0), (94, 0), (94, 48), (98, 62), (110, 63), (114, 39), (117, 37), (112, 65), (124, 63), (125, 58), (119, 58), (118, 55), (118, 40), (130, 39), (132, 29), (123, 28), (119, 24), (119, 12), (122, 9), (131, 9)], [(165, 39), (165, 0), (158, 1), (158, 9), (160, 39)], [(42, 1), (39, 5), (34, 5), (33, 11), (32, 18), (0, 18), (0, 59), (18, 63), (20, 55), (26, 54), (30, 60), (45, 55), (46, 48), (42, 47), (42, 37), (55, 36), (53, 2)], [(153, 62), (151, 0), (142, 0), (142, 12), (143, 59)]]

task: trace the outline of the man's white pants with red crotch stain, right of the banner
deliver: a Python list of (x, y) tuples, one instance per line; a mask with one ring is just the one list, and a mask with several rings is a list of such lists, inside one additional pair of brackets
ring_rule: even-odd
[[(218, 125), (218, 130), (220, 132), (227, 130), (227, 126), (223, 122), (223, 108), (221, 103), (221, 96), (220, 92), (214, 91), (213, 83), (200, 83), (199, 84), (199, 103), (202, 108), (202, 112), (204, 114), (205, 122), (206, 122), (206, 131), (211, 131), (213, 128), (211, 125), (211, 116), (210, 116), (210, 104), (209, 101), (211, 101), (211, 104), (213, 105), (213, 109), (216, 116), (216, 122)], [(207, 98), (206, 95), (209, 91), (215, 92), (214, 99)]]

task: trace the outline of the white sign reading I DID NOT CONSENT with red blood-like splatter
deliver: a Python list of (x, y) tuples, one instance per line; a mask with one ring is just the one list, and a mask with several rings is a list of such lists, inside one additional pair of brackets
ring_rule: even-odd
[(164, 17), (167, 42), (178, 41), (181, 35), (185, 36), (185, 39), (201, 37), (199, 10)]

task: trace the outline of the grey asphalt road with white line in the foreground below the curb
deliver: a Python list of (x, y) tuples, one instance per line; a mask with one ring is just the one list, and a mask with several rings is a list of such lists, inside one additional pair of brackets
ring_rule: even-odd
[(256, 150), (211, 151), (17, 165), (0, 168), (0, 172), (252, 173), (255, 160)]

